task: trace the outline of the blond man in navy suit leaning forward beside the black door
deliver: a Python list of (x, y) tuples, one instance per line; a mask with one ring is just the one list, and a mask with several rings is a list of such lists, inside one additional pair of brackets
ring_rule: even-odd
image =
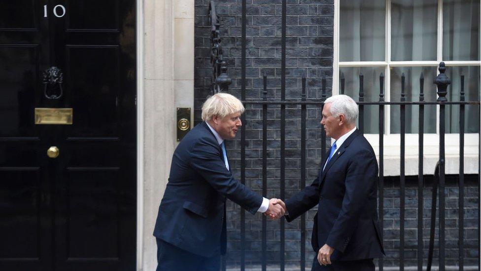
[(226, 250), (226, 198), (248, 212), (284, 215), (268, 200), (232, 177), (224, 140), (241, 127), (244, 107), (236, 97), (217, 93), (202, 106), (204, 122), (179, 143), (160, 203), (154, 236), (157, 271), (218, 271)]

